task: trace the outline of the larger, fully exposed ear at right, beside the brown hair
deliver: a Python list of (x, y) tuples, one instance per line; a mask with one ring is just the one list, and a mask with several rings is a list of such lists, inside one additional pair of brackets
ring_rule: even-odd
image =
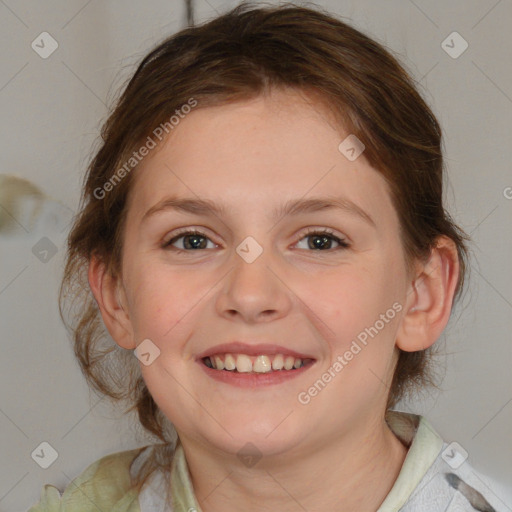
[(405, 313), (396, 338), (398, 348), (415, 352), (436, 342), (450, 319), (458, 278), (455, 242), (441, 236), (408, 287)]

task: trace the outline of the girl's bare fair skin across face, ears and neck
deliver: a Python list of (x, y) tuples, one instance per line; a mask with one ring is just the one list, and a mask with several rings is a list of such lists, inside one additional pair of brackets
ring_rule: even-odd
[[(113, 339), (134, 349), (149, 338), (160, 350), (141, 372), (180, 436), (204, 512), (375, 511), (407, 454), (384, 420), (398, 348), (420, 350), (438, 339), (450, 316), (457, 252), (441, 237), (430, 259), (407, 274), (386, 183), (364, 153), (353, 162), (340, 153), (347, 135), (293, 91), (198, 107), (136, 171), (121, 277), (90, 262), (91, 290)], [(171, 194), (226, 211), (168, 210), (142, 222)], [(269, 217), (288, 200), (341, 195), (375, 226), (343, 210)], [(206, 248), (162, 248), (179, 228), (204, 233)], [(329, 228), (350, 246), (337, 249), (332, 240), (308, 248), (306, 228)], [(252, 263), (235, 250), (247, 236), (263, 248)], [(174, 247), (184, 250), (184, 241)], [(299, 403), (298, 394), (395, 302), (401, 311), (307, 405)], [(276, 343), (316, 362), (282, 384), (237, 388), (195, 361), (233, 340)], [(262, 455), (252, 467), (237, 457), (247, 442)]]

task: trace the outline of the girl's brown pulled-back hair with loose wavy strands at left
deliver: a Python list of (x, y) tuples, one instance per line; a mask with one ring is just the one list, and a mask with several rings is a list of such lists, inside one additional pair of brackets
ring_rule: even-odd
[[(341, 127), (363, 142), (364, 157), (385, 178), (400, 221), (407, 270), (426, 260), (438, 238), (447, 236), (457, 247), (455, 301), (460, 296), (469, 237), (443, 206), (442, 137), (434, 114), (388, 50), (315, 7), (244, 3), (179, 31), (140, 62), (102, 126), (68, 238), (59, 306), (91, 388), (112, 402), (128, 403), (125, 412), (135, 410), (145, 431), (161, 441), (135, 478), (137, 489), (154, 469), (170, 467), (173, 428), (150, 395), (133, 353), (114, 343), (102, 325), (87, 269), (96, 256), (112, 276), (122, 274), (134, 173), (116, 170), (191, 98), (204, 108), (292, 89), (323, 103)], [(116, 172), (116, 185), (98, 198), (98, 190), (107, 190)], [(65, 303), (76, 306), (69, 320)], [(387, 409), (415, 390), (435, 387), (431, 358), (430, 348), (400, 350)]]

